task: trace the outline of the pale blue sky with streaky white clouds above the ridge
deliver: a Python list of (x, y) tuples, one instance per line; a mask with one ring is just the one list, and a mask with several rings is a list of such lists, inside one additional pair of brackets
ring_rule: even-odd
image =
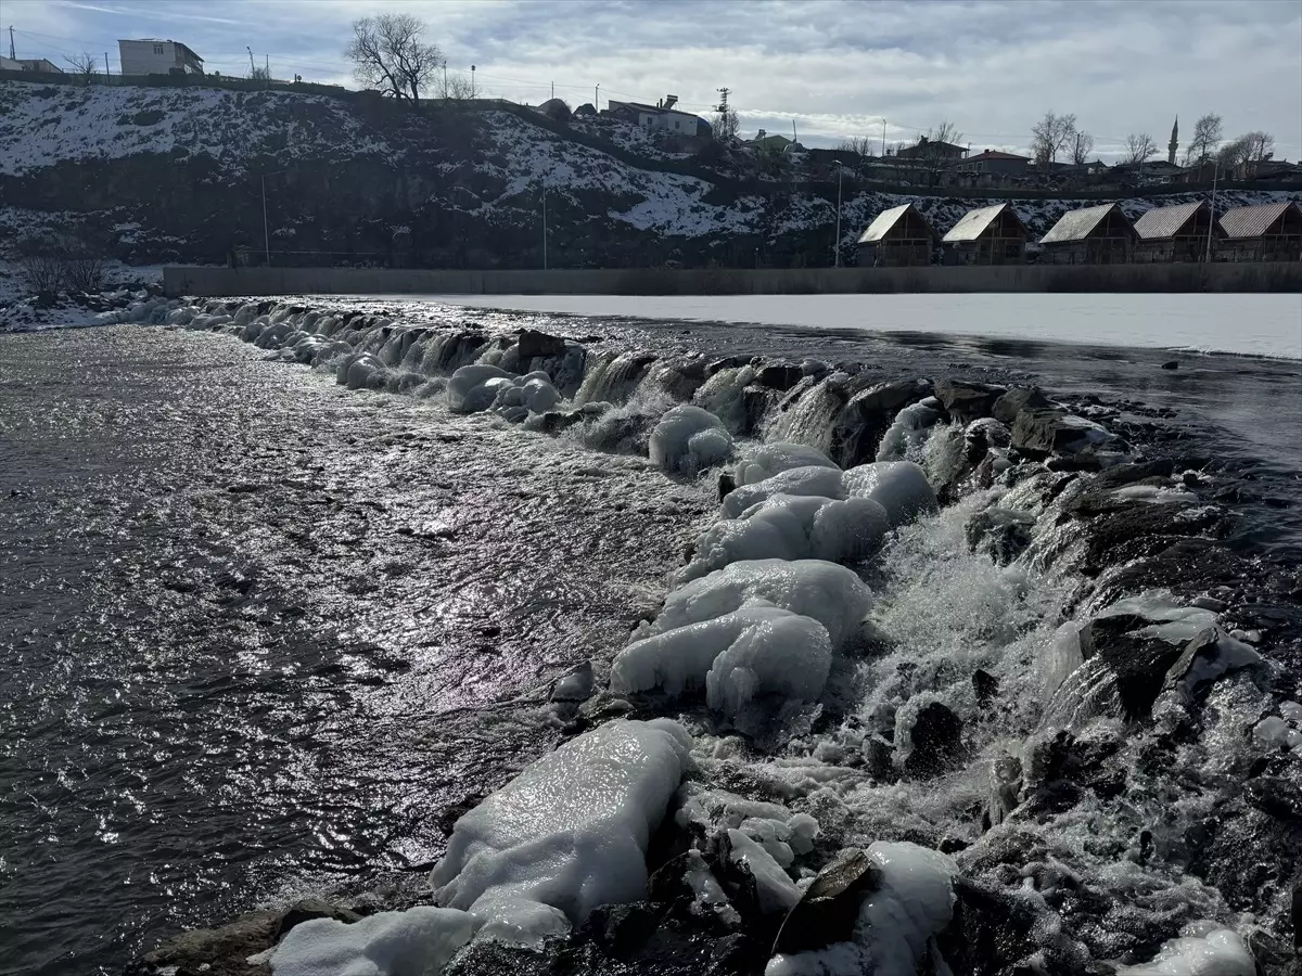
[[(1302, 156), (1302, 0), (3, 0), (20, 57), (83, 51), (117, 70), (120, 38), (182, 40), (208, 70), (354, 86), (358, 17), (418, 16), (477, 90), (577, 107), (668, 94), (703, 116), (730, 88), (745, 137), (806, 146), (913, 142), (953, 122), (974, 152), (1025, 150), (1047, 111), (1074, 113), (1115, 159), (1131, 133), (1165, 155), (1213, 112), (1226, 138), (1271, 133)], [(4, 34), (8, 55), (8, 30)]]

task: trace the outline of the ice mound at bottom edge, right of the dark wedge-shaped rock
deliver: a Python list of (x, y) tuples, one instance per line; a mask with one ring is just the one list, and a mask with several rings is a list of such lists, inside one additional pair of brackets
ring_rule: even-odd
[(875, 842), (868, 858), (880, 868), (878, 888), (863, 899), (854, 942), (814, 953), (775, 955), (764, 976), (911, 976), (928, 940), (953, 915), (954, 861), (914, 843)]

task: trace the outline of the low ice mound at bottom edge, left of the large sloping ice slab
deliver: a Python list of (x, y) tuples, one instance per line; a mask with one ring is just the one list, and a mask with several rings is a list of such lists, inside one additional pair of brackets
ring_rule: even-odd
[(427, 904), (350, 925), (312, 919), (254, 959), (270, 960), (273, 976), (435, 976), (478, 928), (473, 915)]

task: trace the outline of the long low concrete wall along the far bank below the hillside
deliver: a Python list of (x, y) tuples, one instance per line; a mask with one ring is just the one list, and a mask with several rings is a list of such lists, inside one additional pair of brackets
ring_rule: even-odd
[(1302, 264), (792, 268), (742, 271), (163, 269), (169, 295), (729, 295), (892, 291), (1302, 291)]

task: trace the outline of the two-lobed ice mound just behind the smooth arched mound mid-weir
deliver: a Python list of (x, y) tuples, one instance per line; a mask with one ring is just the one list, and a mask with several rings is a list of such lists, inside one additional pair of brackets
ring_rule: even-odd
[(773, 495), (706, 530), (678, 578), (697, 579), (741, 560), (865, 560), (891, 528), (885, 509), (870, 498)]

